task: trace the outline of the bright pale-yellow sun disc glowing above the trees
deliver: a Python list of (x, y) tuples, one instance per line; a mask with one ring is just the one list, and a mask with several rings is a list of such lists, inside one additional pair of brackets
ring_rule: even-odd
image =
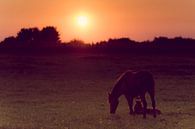
[(81, 28), (86, 28), (89, 24), (89, 18), (85, 15), (79, 15), (76, 18), (77, 25)]

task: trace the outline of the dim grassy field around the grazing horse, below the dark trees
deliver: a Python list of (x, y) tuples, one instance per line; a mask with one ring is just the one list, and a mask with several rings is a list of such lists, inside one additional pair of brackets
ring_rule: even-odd
[[(124, 97), (109, 114), (107, 92), (127, 69), (153, 73), (156, 119), (129, 115)], [(193, 56), (0, 55), (0, 129), (195, 129), (194, 121)]]

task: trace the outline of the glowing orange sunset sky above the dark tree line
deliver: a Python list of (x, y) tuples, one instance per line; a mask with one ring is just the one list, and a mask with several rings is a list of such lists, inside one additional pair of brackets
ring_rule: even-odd
[(0, 0), (0, 41), (21, 28), (48, 25), (62, 41), (195, 38), (195, 0)]

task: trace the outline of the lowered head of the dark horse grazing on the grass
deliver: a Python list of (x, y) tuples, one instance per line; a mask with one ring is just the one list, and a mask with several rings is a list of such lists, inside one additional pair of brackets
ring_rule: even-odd
[(110, 104), (110, 113), (114, 114), (116, 112), (116, 108), (119, 104), (119, 101), (116, 97), (112, 96), (110, 93), (108, 93), (108, 101)]

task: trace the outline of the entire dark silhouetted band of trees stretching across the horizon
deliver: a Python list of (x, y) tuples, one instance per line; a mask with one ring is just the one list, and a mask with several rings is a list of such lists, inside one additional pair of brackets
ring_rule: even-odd
[(61, 42), (59, 32), (53, 26), (39, 30), (23, 28), (17, 36), (5, 38), (1, 52), (104, 52), (104, 53), (180, 53), (193, 54), (195, 39), (155, 37), (152, 41), (138, 42), (129, 38), (109, 39), (87, 44), (82, 40)]

